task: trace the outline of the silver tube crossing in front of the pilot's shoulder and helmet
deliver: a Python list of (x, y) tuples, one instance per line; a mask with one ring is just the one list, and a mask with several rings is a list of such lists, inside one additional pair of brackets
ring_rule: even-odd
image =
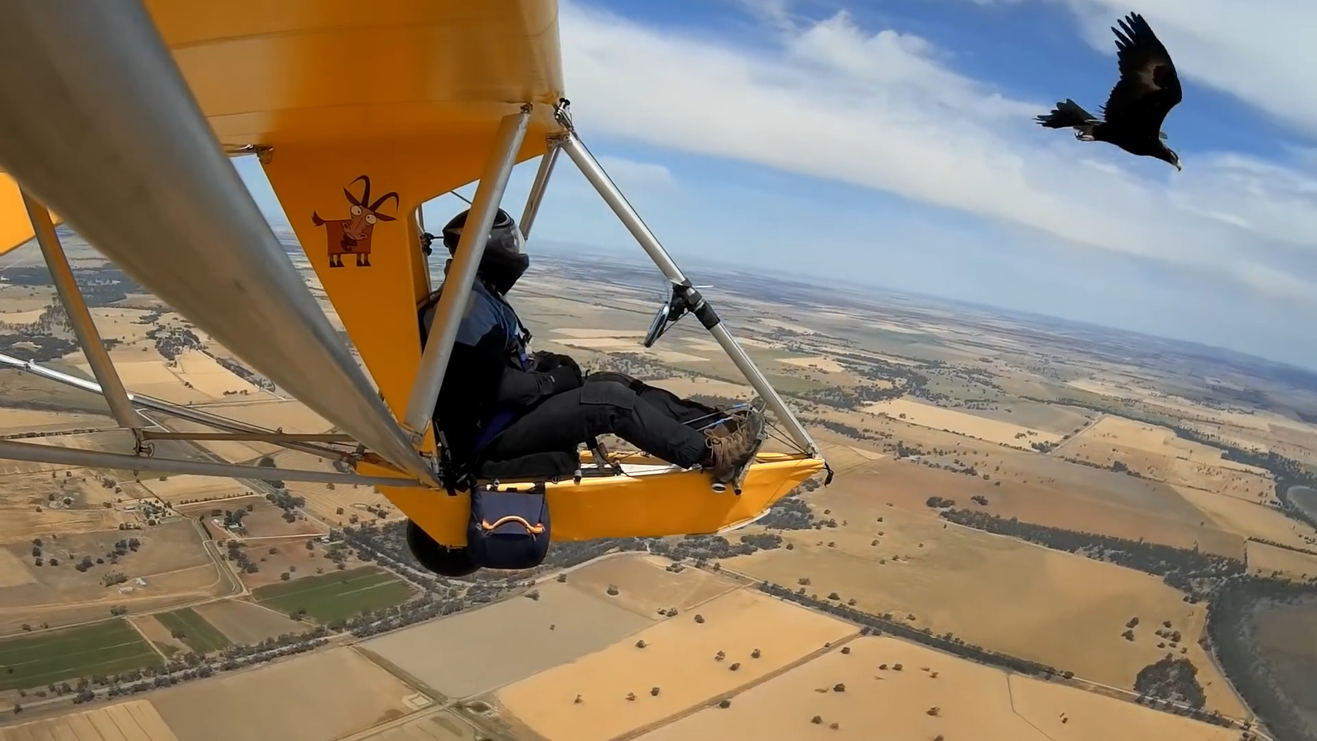
[(522, 150), (522, 140), (525, 138), (529, 124), (529, 103), (523, 104), (516, 113), (503, 116), (494, 137), (494, 148), (485, 162), (485, 171), (481, 173), (479, 185), (475, 186), (475, 198), (471, 199), (471, 208), (466, 214), (462, 235), (457, 239), (453, 264), (444, 278), (444, 293), (440, 294), (439, 305), (435, 307), (435, 319), (420, 356), (411, 397), (407, 400), (403, 427), (411, 434), (412, 444), (419, 444), (424, 438), (435, 414), (435, 402), (439, 401), (444, 373), (453, 356), (453, 343), (457, 340), (457, 327), (462, 322), (462, 310), (471, 295), (471, 283), (475, 282), (475, 270), (479, 269), (481, 256), (485, 254), (485, 243), (490, 227), (494, 225), (494, 215), (503, 199), (503, 191), (507, 189), (508, 177), (516, 165), (516, 154)]

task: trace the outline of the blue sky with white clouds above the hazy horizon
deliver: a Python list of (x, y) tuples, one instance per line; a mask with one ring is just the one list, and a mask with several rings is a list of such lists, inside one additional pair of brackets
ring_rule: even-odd
[[(1033, 121), (1065, 98), (1097, 111), (1117, 79), (1110, 26), (1131, 9), (1183, 80), (1163, 128), (1184, 171)], [(923, 293), (1317, 369), (1317, 58), (1305, 32), (1317, 3), (1241, 9), (562, 0), (560, 34), (578, 132), (678, 262)], [(512, 175), (514, 215), (535, 166)], [(238, 169), (277, 210), (254, 160)], [(464, 207), (440, 196), (427, 224)], [(536, 240), (639, 254), (566, 158), (532, 260)]]

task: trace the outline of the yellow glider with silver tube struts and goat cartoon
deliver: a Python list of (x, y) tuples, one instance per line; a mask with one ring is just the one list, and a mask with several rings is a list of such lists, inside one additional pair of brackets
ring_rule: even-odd
[[(37, 237), (96, 382), (0, 363), (103, 394), (137, 439), (134, 455), (0, 440), (0, 458), (369, 484), (408, 517), (421, 551), (465, 547), (483, 492), (540, 496), (552, 541), (703, 534), (753, 521), (823, 471), (807, 431), (582, 144), (557, 17), (554, 0), (0, 7), (0, 65), (22, 70), (0, 80), (0, 252)], [(473, 218), (491, 219), (512, 166), (539, 158), (528, 235), (564, 152), (670, 285), (661, 323), (694, 314), (795, 448), (760, 452), (738, 492), (644, 455), (590, 451), (565, 475), (454, 487), (431, 414), (483, 244), (464, 233), (450, 272), (461, 280), (443, 293), (423, 352), (419, 208), (478, 181)], [(227, 160), (237, 154), (258, 157), (369, 378)], [(125, 390), (63, 256), (61, 220), (336, 431), (284, 434)], [(217, 431), (159, 432), (142, 409)], [(262, 440), (350, 472), (163, 459), (159, 438)]]

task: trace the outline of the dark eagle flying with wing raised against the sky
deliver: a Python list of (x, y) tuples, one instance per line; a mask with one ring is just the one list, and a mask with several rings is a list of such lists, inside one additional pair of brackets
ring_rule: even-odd
[(1115, 57), (1121, 79), (1102, 105), (1102, 120), (1071, 99), (1056, 104), (1039, 125), (1050, 129), (1073, 128), (1080, 141), (1105, 141), (1130, 154), (1156, 157), (1180, 166), (1180, 156), (1166, 145), (1162, 121), (1181, 98), (1180, 78), (1166, 46), (1138, 13), (1130, 13), (1112, 28), (1115, 34)]

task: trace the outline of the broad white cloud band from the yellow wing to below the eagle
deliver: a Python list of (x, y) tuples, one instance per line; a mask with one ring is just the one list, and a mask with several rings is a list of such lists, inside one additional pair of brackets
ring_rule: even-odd
[(1030, 227), (1058, 245), (1212, 270), (1279, 298), (1317, 297), (1317, 276), (1277, 265), (1281, 253), (1267, 249), (1317, 247), (1317, 179), (1238, 156), (1188, 157), (1175, 173), (1080, 144), (1033, 123), (1050, 102), (1008, 99), (948, 67), (926, 40), (860, 29), (846, 13), (798, 21), (782, 3), (753, 1), (777, 21), (765, 47), (564, 3), (568, 96), (582, 136), (890, 191)]

